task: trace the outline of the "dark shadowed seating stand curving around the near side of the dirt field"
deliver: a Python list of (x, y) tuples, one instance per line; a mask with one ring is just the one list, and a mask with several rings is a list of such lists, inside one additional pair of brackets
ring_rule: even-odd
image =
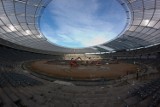
[[(104, 84), (104, 81), (98, 81), (96, 84), (90, 82), (73, 82), (75, 85), (65, 85), (54, 83), (37, 78), (29, 72), (24, 72), (22, 62), (40, 60), (40, 59), (56, 59), (60, 56), (36, 54), (25, 51), (12, 49), (6, 46), (0, 47), (2, 51), (0, 66), (0, 105), (1, 106), (55, 106), (55, 107), (84, 107), (84, 106), (141, 106), (146, 99), (149, 100), (150, 107), (159, 104), (159, 74), (151, 78), (135, 80), (137, 83), (132, 85), (131, 80), (116, 82), (116, 84)], [(5, 53), (5, 54), (4, 54)], [(123, 56), (119, 53), (118, 56)], [(128, 53), (126, 53), (128, 54)], [(154, 53), (156, 54), (156, 53)], [(103, 55), (103, 57), (107, 55)], [(116, 55), (113, 57), (117, 57)], [(118, 57), (117, 57), (118, 58)], [(122, 57), (120, 57), (122, 58)], [(126, 57), (127, 58), (127, 57)], [(128, 63), (141, 63), (144, 68), (159, 66), (159, 59), (120, 59)], [(145, 71), (145, 70), (144, 70)], [(149, 69), (147, 70), (149, 71)], [(146, 73), (146, 71), (145, 71)], [(156, 79), (157, 78), (157, 79)], [(141, 82), (140, 82), (141, 81)], [(144, 81), (144, 82), (143, 82)], [(146, 81), (146, 83), (145, 83)], [(89, 87), (91, 86), (92, 87)], [(99, 84), (99, 85), (98, 85)], [(112, 87), (112, 88), (109, 88)], [(136, 88), (137, 87), (137, 88)], [(90, 91), (92, 90), (92, 91)], [(116, 90), (121, 90), (115, 93)], [(128, 90), (128, 91), (127, 91)], [(129, 92), (129, 94), (128, 94)], [(112, 95), (113, 97), (109, 96)], [(116, 97), (118, 96), (118, 97)], [(151, 97), (151, 98), (150, 98)], [(136, 101), (133, 100), (136, 98)], [(132, 101), (130, 101), (132, 99)], [(148, 100), (147, 100), (148, 101)], [(61, 103), (63, 102), (63, 103)], [(133, 104), (134, 102), (134, 104)], [(133, 105), (132, 105), (133, 104)]]

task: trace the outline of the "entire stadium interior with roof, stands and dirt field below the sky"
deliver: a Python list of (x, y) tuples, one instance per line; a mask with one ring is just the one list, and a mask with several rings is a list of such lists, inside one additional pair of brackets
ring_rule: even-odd
[(0, 107), (160, 107), (160, 0), (116, 0), (123, 30), (84, 48), (43, 35), (53, 1), (0, 1)]

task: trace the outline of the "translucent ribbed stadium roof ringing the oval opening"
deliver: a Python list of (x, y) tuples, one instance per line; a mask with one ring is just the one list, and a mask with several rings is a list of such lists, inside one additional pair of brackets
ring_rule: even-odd
[(51, 1), (1, 0), (0, 38), (19, 46), (63, 53), (110, 52), (160, 43), (160, 0), (117, 0), (124, 7), (128, 20), (117, 38), (83, 49), (56, 46), (39, 30), (41, 14)]

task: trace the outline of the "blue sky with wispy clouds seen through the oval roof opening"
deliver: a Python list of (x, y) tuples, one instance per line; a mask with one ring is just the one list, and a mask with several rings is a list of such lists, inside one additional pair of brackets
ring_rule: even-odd
[(118, 36), (126, 19), (116, 0), (53, 0), (44, 9), (40, 29), (53, 44), (84, 48)]

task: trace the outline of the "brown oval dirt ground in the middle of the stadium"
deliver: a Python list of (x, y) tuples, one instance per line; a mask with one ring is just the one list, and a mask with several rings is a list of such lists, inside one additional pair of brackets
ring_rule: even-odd
[(33, 62), (31, 63), (31, 68), (40, 74), (72, 79), (116, 79), (120, 76), (127, 75), (127, 73), (134, 73), (138, 68), (137, 65), (127, 63), (70, 67), (67, 64), (47, 64), (46, 62), (47, 61)]

